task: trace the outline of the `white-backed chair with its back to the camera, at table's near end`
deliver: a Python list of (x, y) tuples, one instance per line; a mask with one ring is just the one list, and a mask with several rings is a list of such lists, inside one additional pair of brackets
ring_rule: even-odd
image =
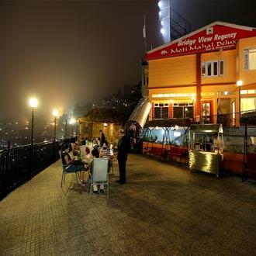
[(93, 185), (106, 185), (107, 190), (107, 199), (109, 199), (109, 158), (95, 158), (93, 160), (93, 168), (91, 175), (91, 184), (90, 184), (90, 196), (92, 195), (92, 186)]

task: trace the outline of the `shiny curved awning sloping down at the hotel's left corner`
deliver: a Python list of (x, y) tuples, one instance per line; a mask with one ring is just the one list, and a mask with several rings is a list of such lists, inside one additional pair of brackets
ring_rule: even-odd
[(141, 128), (143, 128), (144, 124), (147, 121), (147, 116), (150, 113), (150, 109), (151, 109), (150, 100), (147, 97), (140, 99), (140, 102), (137, 104), (136, 108), (133, 110), (126, 124), (137, 122), (141, 126)]

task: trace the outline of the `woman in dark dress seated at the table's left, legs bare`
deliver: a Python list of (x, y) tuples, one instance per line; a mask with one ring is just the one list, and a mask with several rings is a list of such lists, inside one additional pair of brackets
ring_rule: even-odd
[(88, 163), (78, 160), (77, 157), (71, 157), (68, 154), (69, 146), (64, 145), (61, 149), (61, 160), (63, 164), (74, 165), (76, 171), (78, 171), (78, 183), (81, 186), (85, 186), (84, 175), (85, 171), (88, 171)]

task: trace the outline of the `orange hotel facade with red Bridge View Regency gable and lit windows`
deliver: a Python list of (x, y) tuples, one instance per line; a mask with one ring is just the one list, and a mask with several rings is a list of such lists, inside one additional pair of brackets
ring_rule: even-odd
[(146, 54), (144, 96), (149, 119), (191, 118), (239, 126), (256, 109), (256, 29), (227, 22), (171, 41)]

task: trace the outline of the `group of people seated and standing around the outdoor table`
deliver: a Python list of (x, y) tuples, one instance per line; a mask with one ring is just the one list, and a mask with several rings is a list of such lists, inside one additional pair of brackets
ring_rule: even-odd
[[(65, 165), (72, 165), (76, 171), (78, 171), (78, 183), (81, 186), (85, 186), (86, 182), (84, 180), (85, 171), (89, 171), (92, 174), (93, 170), (93, 159), (98, 157), (108, 157), (109, 158), (109, 169), (112, 166), (112, 160), (114, 158), (114, 153), (112, 145), (108, 147), (105, 135), (100, 130), (101, 138), (100, 144), (88, 144), (85, 146), (79, 146), (78, 140), (71, 145), (72, 154), (70, 152), (70, 145), (64, 144), (61, 148), (61, 160)], [(123, 130), (119, 130), (119, 142), (116, 147), (118, 149), (117, 159), (119, 163), (119, 182), (120, 184), (126, 183), (126, 160), (129, 151), (128, 140), (126, 139)], [(104, 185), (93, 185), (93, 192), (99, 193), (104, 192)]]

